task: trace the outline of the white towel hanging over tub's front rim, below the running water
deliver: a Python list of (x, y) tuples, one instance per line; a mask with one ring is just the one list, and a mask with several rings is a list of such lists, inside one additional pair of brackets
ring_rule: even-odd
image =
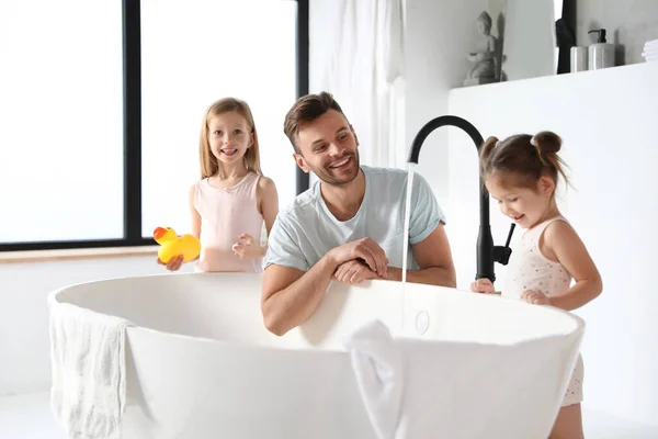
[(356, 384), (378, 439), (396, 437), (402, 403), (402, 353), (381, 320), (345, 335)]

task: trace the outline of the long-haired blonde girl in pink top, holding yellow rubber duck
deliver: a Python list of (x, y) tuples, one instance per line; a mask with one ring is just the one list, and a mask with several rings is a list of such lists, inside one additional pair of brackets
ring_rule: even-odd
[[(200, 136), (201, 179), (190, 188), (192, 234), (201, 241), (197, 271), (261, 272), (279, 213), (274, 182), (260, 167), (256, 124), (249, 105), (224, 98), (206, 111)], [(167, 269), (175, 271), (182, 256)], [(159, 261), (159, 263), (162, 263)]]

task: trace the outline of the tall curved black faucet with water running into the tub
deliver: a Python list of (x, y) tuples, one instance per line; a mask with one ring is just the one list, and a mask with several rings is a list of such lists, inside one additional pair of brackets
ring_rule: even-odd
[[(420, 147), (422, 146), (424, 139), (430, 135), (434, 130), (444, 126), (452, 125), (458, 128), (462, 128), (473, 139), (475, 147), (477, 148), (478, 156), (479, 150), (483, 144), (485, 143), (481, 134), (476, 130), (473, 124), (462, 117), (446, 115), (439, 116), (436, 119), (428, 122), (416, 135), (413, 138), (413, 143), (411, 144), (411, 151), (409, 153), (409, 159), (407, 160), (410, 164), (418, 165), (418, 156), (420, 155)], [(496, 272), (494, 271), (494, 262), (502, 263), (507, 266), (510, 260), (510, 255), (512, 254), (512, 249), (510, 248), (510, 240), (512, 239), (512, 233), (514, 233), (515, 224), (512, 223), (510, 226), (510, 233), (508, 235), (508, 239), (504, 246), (495, 246), (494, 238), (491, 237), (491, 225), (489, 224), (489, 192), (485, 188), (483, 182), (483, 178), (479, 178), (480, 193), (479, 193), (479, 203), (480, 203), (480, 226), (479, 233), (477, 236), (477, 271), (475, 273), (475, 279), (484, 279), (487, 278), (491, 282), (496, 281)]]

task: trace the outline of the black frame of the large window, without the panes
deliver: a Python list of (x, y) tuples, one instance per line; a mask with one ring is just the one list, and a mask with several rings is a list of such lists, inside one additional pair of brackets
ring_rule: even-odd
[[(239, 1), (239, 0), (237, 0)], [(308, 3), (297, 1), (297, 95), (308, 93)], [(141, 236), (141, 4), (122, 0), (124, 237), (121, 239), (0, 243), (0, 252), (155, 245)], [(309, 187), (308, 173), (296, 169), (297, 194)]]

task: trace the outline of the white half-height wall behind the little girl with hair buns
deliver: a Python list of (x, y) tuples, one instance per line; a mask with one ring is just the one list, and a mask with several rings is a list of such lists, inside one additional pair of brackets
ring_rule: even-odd
[[(561, 194), (563, 213), (586, 243), (603, 277), (603, 294), (578, 314), (587, 320), (582, 346), (585, 403), (590, 409), (658, 426), (658, 63), (453, 90), (451, 113), (486, 138), (552, 130), (575, 189)], [(478, 227), (477, 157), (463, 134), (450, 135), (447, 232), (466, 288), (475, 273)], [(509, 221), (491, 204), (496, 244)], [(497, 264), (502, 278), (504, 269)]]

